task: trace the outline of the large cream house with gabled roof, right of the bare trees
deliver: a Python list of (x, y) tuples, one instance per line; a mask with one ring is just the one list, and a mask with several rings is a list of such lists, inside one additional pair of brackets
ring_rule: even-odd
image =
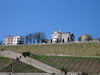
[(52, 43), (67, 43), (69, 41), (74, 41), (74, 35), (70, 32), (61, 33), (58, 31), (54, 31), (52, 34)]

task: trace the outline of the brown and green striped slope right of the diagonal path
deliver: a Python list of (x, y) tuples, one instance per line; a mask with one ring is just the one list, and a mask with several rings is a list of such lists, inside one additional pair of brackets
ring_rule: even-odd
[(65, 68), (66, 71), (85, 72), (89, 75), (100, 73), (100, 58), (65, 57), (65, 56), (33, 56), (55, 68)]

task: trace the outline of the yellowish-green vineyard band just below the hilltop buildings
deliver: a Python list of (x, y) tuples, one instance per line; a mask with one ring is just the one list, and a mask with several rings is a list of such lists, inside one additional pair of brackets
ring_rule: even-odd
[(0, 46), (1, 50), (30, 52), (33, 54), (65, 54), (75, 56), (100, 56), (100, 43), (67, 43)]

